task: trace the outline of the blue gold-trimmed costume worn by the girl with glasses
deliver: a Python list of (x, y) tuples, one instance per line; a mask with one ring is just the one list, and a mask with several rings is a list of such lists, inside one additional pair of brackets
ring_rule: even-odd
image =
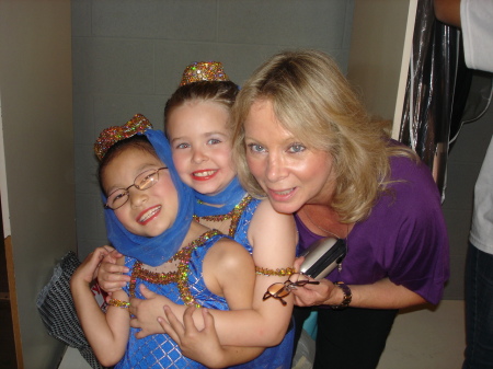
[[(144, 284), (151, 291), (165, 296), (175, 303), (199, 304), (217, 310), (228, 310), (226, 299), (214, 295), (203, 279), (203, 262), (207, 252), (225, 235), (217, 230), (207, 231), (187, 247), (176, 253), (180, 260), (176, 273), (152, 273), (141, 268), (141, 263), (125, 257), (130, 268), (133, 281), (124, 288), (129, 296), (144, 299), (138, 286)], [(183, 278), (182, 278), (183, 277)], [(206, 368), (202, 364), (184, 357), (179, 345), (168, 334), (154, 334), (137, 339), (137, 328), (130, 327), (130, 336), (125, 356), (115, 369), (126, 368)]]

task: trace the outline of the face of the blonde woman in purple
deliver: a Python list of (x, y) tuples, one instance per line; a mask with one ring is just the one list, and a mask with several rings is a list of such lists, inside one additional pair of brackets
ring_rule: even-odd
[(244, 134), (248, 165), (274, 209), (290, 214), (305, 204), (330, 204), (335, 183), (332, 157), (285, 129), (271, 101), (252, 104)]

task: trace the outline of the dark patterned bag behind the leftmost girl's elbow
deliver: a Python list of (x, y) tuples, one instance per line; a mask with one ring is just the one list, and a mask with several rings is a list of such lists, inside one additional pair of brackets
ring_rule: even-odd
[(79, 349), (92, 368), (103, 369), (85, 339), (70, 292), (70, 278), (79, 265), (76, 253), (68, 252), (55, 266), (49, 282), (39, 291), (36, 305), (50, 336)]

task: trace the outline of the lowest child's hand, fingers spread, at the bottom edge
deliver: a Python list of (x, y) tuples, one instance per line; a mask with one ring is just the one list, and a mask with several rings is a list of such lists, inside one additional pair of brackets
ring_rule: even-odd
[(208, 368), (221, 367), (225, 349), (214, 325), (214, 318), (206, 308), (200, 308), (205, 327), (198, 331), (192, 318), (195, 307), (188, 307), (183, 314), (183, 324), (173, 314), (170, 307), (163, 308), (165, 319), (158, 318), (162, 328), (173, 338), (182, 349), (183, 355), (198, 361)]

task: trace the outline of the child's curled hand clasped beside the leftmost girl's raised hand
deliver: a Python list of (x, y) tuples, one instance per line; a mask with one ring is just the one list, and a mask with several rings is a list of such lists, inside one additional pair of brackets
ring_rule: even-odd
[(108, 253), (104, 256), (98, 269), (98, 284), (101, 289), (111, 293), (122, 289), (128, 281), (130, 276), (124, 275), (128, 268), (124, 265), (116, 265), (118, 258), (124, 255), (111, 246), (104, 246)]

